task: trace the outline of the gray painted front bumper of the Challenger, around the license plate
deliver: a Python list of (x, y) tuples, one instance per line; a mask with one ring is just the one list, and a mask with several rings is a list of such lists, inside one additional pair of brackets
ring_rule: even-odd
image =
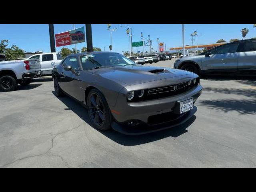
[[(195, 102), (201, 93), (202, 86), (199, 84), (195, 88), (182, 94), (155, 100), (130, 103), (126, 101), (126, 95), (119, 94), (116, 105), (115, 107), (111, 107), (111, 111), (116, 122), (125, 124), (131, 120), (138, 120), (142, 123), (148, 124), (148, 119), (151, 116), (172, 112), (176, 107), (178, 100), (193, 98)], [(119, 114), (116, 114), (113, 111), (117, 111)]]

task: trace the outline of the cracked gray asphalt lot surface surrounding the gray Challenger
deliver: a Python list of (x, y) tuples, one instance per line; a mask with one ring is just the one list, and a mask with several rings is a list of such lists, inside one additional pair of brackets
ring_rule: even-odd
[(96, 130), (83, 106), (54, 95), (50, 78), (0, 92), (0, 167), (256, 167), (256, 78), (201, 84), (188, 122), (141, 136)]

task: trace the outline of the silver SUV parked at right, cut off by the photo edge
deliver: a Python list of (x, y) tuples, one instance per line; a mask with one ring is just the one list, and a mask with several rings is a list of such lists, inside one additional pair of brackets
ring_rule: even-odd
[(256, 39), (231, 42), (197, 56), (180, 58), (174, 68), (196, 74), (256, 74)]

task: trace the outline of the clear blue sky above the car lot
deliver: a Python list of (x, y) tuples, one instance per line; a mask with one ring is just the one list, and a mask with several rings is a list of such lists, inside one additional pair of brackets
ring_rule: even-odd
[[(152, 48), (158, 50), (160, 42), (166, 44), (166, 49), (182, 46), (182, 24), (111, 24), (112, 28), (118, 28), (112, 32), (112, 49), (114, 52), (122, 54), (129, 50), (129, 37), (126, 35), (126, 28), (121, 25), (128, 25), (132, 28), (132, 42), (141, 41), (140, 32), (143, 32), (144, 38), (150, 35)], [(84, 26), (84, 24), (75, 24), (75, 28)], [(242, 28), (248, 28), (249, 32), (246, 38), (256, 37), (256, 28), (253, 24), (185, 24), (185, 45), (192, 45), (191, 36), (197, 30), (198, 44), (215, 43), (219, 39), (227, 42), (230, 39), (238, 38), (242, 40)], [(73, 24), (54, 24), (54, 33), (61, 33), (73, 29)], [(202, 36), (200, 36), (202, 35)], [(18, 46), (25, 52), (43, 51), (50, 52), (50, 38), (48, 24), (0, 24), (0, 40), (9, 40), (9, 47), (12, 44)], [(94, 47), (101, 48), (102, 51), (108, 51), (110, 45), (110, 31), (107, 30), (107, 24), (92, 24), (92, 42)], [(196, 41), (194, 41), (194, 45)], [(86, 42), (76, 44), (77, 49), (86, 47)], [(64, 46), (72, 49), (73, 45)], [(62, 47), (56, 47), (59, 52)], [(142, 47), (133, 48), (133, 51), (142, 51)], [(149, 51), (149, 46), (144, 46), (144, 52)]]

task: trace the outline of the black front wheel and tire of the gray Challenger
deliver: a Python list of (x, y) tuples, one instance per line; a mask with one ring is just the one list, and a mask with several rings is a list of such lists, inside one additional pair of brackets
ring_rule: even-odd
[(87, 97), (87, 110), (92, 124), (101, 131), (111, 128), (111, 113), (103, 94), (97, 90), (90, 90)]

